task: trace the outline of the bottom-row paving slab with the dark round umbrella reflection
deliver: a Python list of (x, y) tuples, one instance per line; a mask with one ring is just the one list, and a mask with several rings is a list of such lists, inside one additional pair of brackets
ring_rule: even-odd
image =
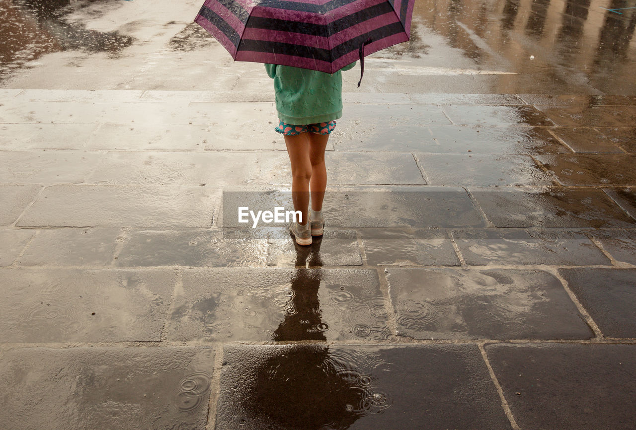
[(223, 357), (219, 430), (510, 428), (471, 344), (232, 345)]

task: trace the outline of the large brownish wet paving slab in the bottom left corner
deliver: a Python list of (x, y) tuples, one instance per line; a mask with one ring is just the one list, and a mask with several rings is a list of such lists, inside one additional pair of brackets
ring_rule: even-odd
[(205, 429), (211, 347), (22, 348), (0, 361), (8, 429)]

